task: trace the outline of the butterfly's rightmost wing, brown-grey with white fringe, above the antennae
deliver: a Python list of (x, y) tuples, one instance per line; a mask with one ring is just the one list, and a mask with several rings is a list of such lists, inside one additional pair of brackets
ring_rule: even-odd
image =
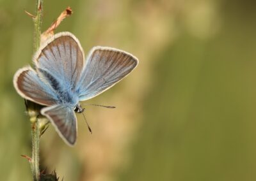
[(127, 76), (138, 59), (127, 52), (109, 47), (95, 47), (86, 60), (78, 84), (79, 100), (93, 98)]

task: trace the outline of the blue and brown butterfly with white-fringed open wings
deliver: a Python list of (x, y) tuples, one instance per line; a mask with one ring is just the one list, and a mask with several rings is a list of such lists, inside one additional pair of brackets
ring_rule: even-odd
[(79, 40), (72, 33), (57, 33), (41, 45), (31, 66), (19, 69), (13, 84), (22, 98), (44, 105), (47, 117), (68, 145), (77, 139), (75, 113), (79, 104), (122, 80), (138, 65), (133, 55), (110, 47), (93, 47), (84, 61)]

